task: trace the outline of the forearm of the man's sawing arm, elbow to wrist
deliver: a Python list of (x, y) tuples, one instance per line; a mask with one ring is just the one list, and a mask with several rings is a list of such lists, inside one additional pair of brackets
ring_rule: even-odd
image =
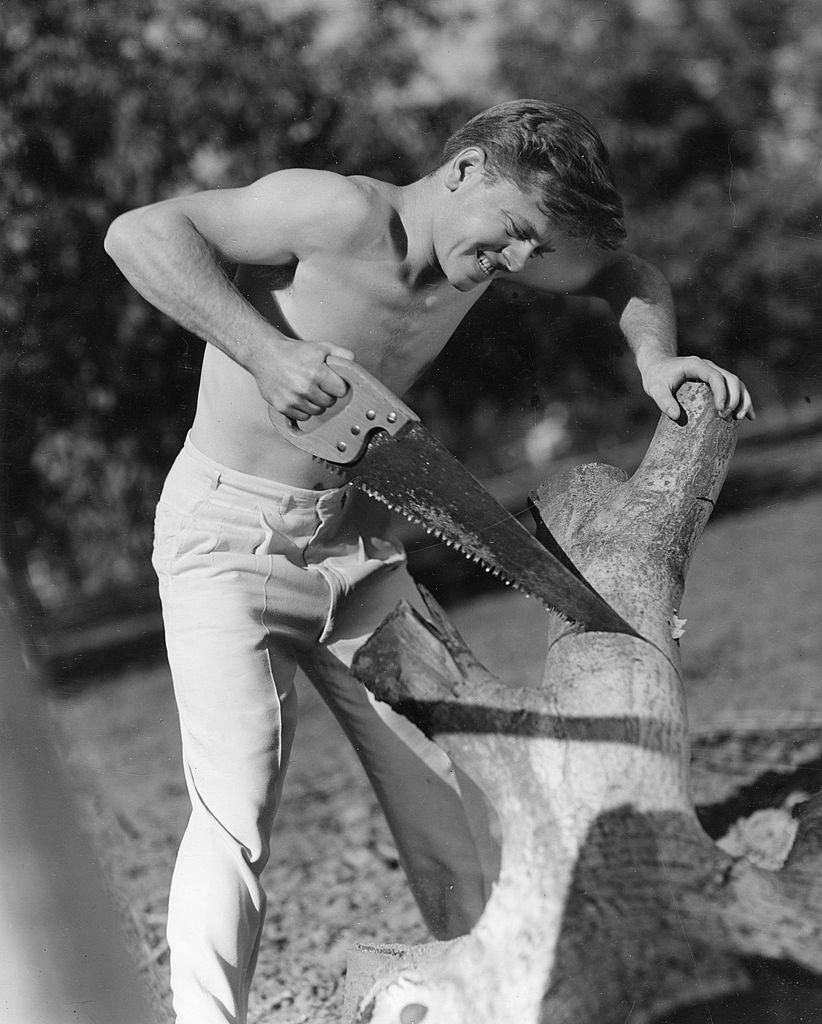
[(261, 352), (284, 336), (236, 290), (180, 211), (149, 207), (123, 214), (105, 251), (152, 305), (254, 372)]

